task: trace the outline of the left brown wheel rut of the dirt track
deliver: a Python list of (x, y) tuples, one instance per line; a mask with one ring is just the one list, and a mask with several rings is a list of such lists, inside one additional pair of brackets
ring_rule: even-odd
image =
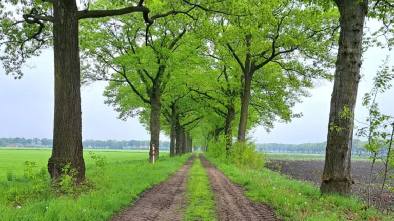
[(111, 221), (175, 221), (183, 220), (186, 200), (186, 183), (195, 156), (172, 174), (170, 178), (140, 195), (135, 205), (116, 214)]

